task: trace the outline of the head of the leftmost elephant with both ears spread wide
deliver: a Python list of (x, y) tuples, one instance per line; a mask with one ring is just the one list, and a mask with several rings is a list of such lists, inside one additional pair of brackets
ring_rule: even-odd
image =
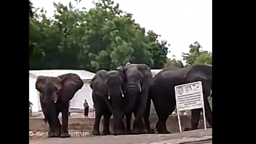
[(35, 82), (35, 88), (43, 95), (43, 101), (47, 103), (56, 103), (60, 99), (69, 101), (82, 86), (83, 81), (80, 77), (72, 73), (58, 77), (38, 76)]

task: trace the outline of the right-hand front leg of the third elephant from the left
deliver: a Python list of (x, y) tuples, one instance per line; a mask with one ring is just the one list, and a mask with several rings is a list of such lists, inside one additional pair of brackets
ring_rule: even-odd
[(135, 134), (144, 134), (147, 133), (147, 130), (145, 129), (145, 125), (143, 123), (143, 116), (144, 116), (144, 112), (146, 109), (146, 104), (147, 104), (147, 95), (148, 92), (142, 92), (139, 95), (139, 106), (137, 107), (137, 109), (135, 110), (136, 112), (135, 114), (135, 120), (134, 120), (134, 124), (133, 124), (133, 131)]

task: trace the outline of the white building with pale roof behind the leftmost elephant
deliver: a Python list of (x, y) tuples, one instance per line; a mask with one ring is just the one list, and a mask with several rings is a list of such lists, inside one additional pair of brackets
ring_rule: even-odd
[(84, 86), (82, 89), (75, 93), (74, 98), (71, 100), (71, 109), (83, 109), (83, 101), (87, 99), (90, 108), (93, 108), (92, 100), (92, 89), (90, 88), (89, 82), (94, 77), (95, 73), (86, 70), (30, 70), (29, 71), (29, 100), (33, 103), (32, 111), (41, 111), (41, 106), (39, 102), (39, 92), (35, 89), (35, 81), (37, 76), (52, 76), (57, 77), (59, 75), (74, 73), (80, 76), (84, 81)]

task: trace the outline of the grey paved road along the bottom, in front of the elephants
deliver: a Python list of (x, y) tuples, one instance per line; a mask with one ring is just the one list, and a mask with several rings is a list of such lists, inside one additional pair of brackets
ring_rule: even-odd
[[(188, 139), (207, 139), (212, 137), (212, 129), (194, 130), (176, 134), (145, 134), (145, 135), (107, 135), (80, 138), (40, 138), (31, 139), (30, 144), (178, 144)], [(202, 143), (202, 142), (201, 142)], [(207, 143), (208, 144), (208, 143)]]

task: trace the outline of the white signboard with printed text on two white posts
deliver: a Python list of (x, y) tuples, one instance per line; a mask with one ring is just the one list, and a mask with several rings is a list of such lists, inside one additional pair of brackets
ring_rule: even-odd
[(196, 81), (182, 85), (177, 85), (174, 87), (174, 89), (180, 132), (182, 132), (182, 130), (179, 111), (192, 110), (198, 108), (203, 108), (203, 123), (204, 130), (206, 130), (202, 82)]

